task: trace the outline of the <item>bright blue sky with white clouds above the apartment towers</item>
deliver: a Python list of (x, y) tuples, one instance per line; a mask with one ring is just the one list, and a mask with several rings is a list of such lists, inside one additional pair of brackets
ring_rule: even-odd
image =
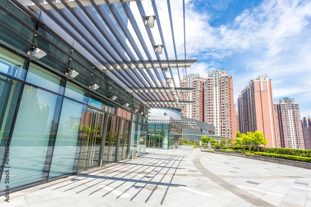
[[(225, 68), (233, 77), (234, 103), (251, 79), (272, 79), (274, 102), (294, 97), (301, 118), (311, 116), (311, 2), (309, 0), (185, 0), (187, 59), (197, 59), (189, 73), (207, 76)], [(150, 1), (142, 1), (153, 15)], [(170, 0), (179, 59), (184, 59), (183, 1)], [(157, 0), (166, 49), (174, 59), (166, 0)], [(133, 11), (136, 4), (131, 4)], [(138, 10), (137, 10), (138, 13)], [(141, 18), (137, 16), (136, 18)], [(131, 27), (129, 25), (129, 27)], [(144, 31), (143, 25), (141, 31)], [(160, 42), (157, 25), (152, 29)], [(146, 35), (146, 34), (144, 34)], [(148, 37), (146, 36), (148, 43)], [(149, 41), (150, 43), (150, 41)], [(165, 59), (162, 54), (162, 59)], [(177, 70), (173, 71), (178, 80)], [(181, 76), (185, 74), (181, 69)]]

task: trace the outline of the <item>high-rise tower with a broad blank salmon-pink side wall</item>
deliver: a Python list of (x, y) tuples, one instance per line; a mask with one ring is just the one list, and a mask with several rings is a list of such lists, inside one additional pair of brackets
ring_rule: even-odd
[(267, 147), (278, 147), (273, 108), (271, 80), (260, 75), (251, 80), (238, 98), (239, 130), (241, 133), (261, 131)]

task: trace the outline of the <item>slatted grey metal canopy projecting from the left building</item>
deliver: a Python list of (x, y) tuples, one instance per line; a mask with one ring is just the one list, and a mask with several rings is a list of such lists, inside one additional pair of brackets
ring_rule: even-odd
[[(137, 97), (137, 100), (149, 107), (159, 108), (175, 108), (180, 106), (179, 104), (193, 103), (191, 101), (186, 103), (181, 100), (183, 96), (179, 97), (179, 92), (191, 92), (193, 89), (177, 88), (172, 68), (177, 68), (181, 85), (179, 68), (190, 67), (197, 60), (177, 59), (169, 0), (167, 0), (169, 19), (159, 16), (154, 0), (151, 0), (154, 14), (152, 12), (146, 14), (140, 0), (56, 0), (56, 2), (55, 0), (45, 0), (43, 4), (40, 3), (40, 0), (31, 1), (33, 5), (28, 6), (31, 10), (43, 11), (78, 44), (83, 45), (83, 49), (94, 58), (92, 61), (96, 60), (103, 65), (100, 69), (95, 68), (96, 70), (106, 70), (105, 75), (117, 79), (114, 82), (121, 84), (120, 87), (130, 92), (133, 97)], [(140, 13), (139, 17), (134, 17), (129, 7), (130, 1), (136, 2)], [(148, 24), (145, 25), (145, 16), (150, 15), (156, 16), (158, 31), (149, 28)], [(162, 20), (170, 21), (173, 45), (165, 44), (160, 23)], [(134, 33), (128, 29), (127, 21), (131, 23)], [(144, 25), (146, 31), (141, 31), (139, 24)], [(160, 33), (161, 41), (156, 43), (152, 33), (157, 32)], [(143, 33), (148, 35), (149, 41), (145, 42)], [(135, 38), (138, 38), (139, 42), (135, 41)], [(159, 44), (163, 45), (163, 54), (155, 52), (156, 60), (153, 60), (150, 48), (154, 51), (154, 47)], [(173, 46), (175, 60), (170, 60), (166, 47)], [(82, 56), (82, 58), (85, 57)], [(167, 68), (167, 72), (158, 70), (159, 68)], [(167, 81), (169, 78), (172, 80), (171, 83)], [(93, 83), (96, 82), (93, 81)], [(178, 102), (174, 98), (175, 94)]]

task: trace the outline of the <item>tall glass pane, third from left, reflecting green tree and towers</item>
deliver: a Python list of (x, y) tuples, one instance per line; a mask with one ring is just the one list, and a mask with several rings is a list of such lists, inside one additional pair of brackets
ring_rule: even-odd
[(77, 173), (86, 105), (64, 98), (49, 179)]

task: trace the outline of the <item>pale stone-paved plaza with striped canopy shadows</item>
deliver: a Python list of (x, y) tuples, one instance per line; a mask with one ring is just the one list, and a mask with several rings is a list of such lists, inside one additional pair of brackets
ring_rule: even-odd
[[(183, 147), (10, 194), (0, 206), (311, 206), (311, 171)], [(310, 187), (309, 187), (310, 185)]]

